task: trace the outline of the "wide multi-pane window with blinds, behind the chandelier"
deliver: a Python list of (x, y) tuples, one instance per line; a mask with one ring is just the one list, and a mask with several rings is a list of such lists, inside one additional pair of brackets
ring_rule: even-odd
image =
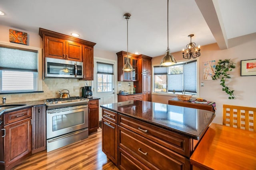
[(198, 61), (181, 61), (172, 66), (154, 66), (154, 92), (198, 95)]

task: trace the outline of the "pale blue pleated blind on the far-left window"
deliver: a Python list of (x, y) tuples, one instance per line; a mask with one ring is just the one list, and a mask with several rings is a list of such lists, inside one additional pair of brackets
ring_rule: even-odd
[(0, 46), (0, 70), (38, 72), (38, 52)]

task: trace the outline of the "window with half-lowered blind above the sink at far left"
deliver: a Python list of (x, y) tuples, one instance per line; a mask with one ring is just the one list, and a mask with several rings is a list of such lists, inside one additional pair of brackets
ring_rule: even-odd
[(42, 90), (42, 78), (39, 78), (42, 73), (38, 73), (39, 51), (39, 48), (24, 49), (21, 45), (10, 46), (0, 43), (0, 94)]

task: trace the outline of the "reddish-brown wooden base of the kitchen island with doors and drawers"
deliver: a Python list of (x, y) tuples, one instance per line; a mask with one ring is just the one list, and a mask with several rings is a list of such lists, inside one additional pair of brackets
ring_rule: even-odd
[(193, 139), (108, 109), (102, 115), (102, 150), (119, 169), (192, 169)]

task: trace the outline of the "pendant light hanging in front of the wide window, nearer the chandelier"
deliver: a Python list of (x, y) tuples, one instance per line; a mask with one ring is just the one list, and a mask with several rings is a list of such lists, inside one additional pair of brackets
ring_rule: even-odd
[(175, 58), (170, 53), (170, 49), (169, 49), (169, 17), (168, 17), (168, 13), (169, 13), (169, 0), (167, 0), (167, 50), (166, 50), (165, 56), (162, 58), (161, 63), (160, 63), (163, 66), (170, 66), (170, 65), (177, 63)]

